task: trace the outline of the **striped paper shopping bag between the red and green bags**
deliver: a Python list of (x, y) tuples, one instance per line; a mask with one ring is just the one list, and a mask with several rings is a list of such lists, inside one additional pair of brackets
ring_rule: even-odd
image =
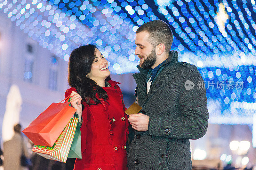
[(75, 136), (75, 132), (77, 132), (76, 129), (79, 128), (78, 132), (80, 132), (80, 126), (78, 122), (79, 122), (79, 119), (75, 114), (74, 117), (70, 119), (67, 126), (61, 132), (59, 138), (56, 140), (56, 142), (53, 144), (52, 147), (35, 145), (32, 151), (36, 152), (37, 154), (43, 156), (46, 159), (51, 159), (51, 160), (56, 160), (56, 161), (66, 163), (66, 160), (68, 158), (68, 153)]

